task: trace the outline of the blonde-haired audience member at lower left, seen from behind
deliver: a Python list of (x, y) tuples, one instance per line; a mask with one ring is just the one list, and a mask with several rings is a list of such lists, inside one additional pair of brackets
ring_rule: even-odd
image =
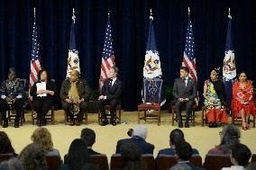
[(58, 156), (61, 158), (59, 150), (53, 148), (50, 131), (46, 128), (38, 128), (34, 130), (31, 139), (33, 143), (40, 144), (42, 146), (45, 152), (45, 157)]

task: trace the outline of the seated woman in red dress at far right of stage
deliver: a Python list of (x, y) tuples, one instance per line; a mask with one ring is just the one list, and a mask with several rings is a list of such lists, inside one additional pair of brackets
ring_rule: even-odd
[(249, 130), (249, 116), (254, 115), (253, 87), (251, 81), (247, 80), (244, 72), (241, 72), (238, 81), (233, 84), (233, 116), (242, 117), (242, 130)]

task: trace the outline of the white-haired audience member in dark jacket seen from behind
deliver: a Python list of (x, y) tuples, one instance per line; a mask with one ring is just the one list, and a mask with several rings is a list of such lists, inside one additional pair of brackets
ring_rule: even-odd
[(148, 142), (146, 142), (146, 138), (148, 135), (148, 130), (143, 125), (137, 125), (133, 129), (133, 136), (131, 139), (120, 139), (117, 141), (115, 154), (120, 154), (122, 150), (122, 146), (125, 143), (133, 143), (137, 145), (142, 154), (153, 154), (154, 146)]

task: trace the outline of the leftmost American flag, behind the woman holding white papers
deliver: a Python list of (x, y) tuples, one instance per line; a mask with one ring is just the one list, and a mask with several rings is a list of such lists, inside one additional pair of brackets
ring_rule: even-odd
[[(41, 57), (39, 57), (39, 41), (38, 41), (38, 33), (37, 33), (35, 9), (34, 9), (34, 21), (33, 21), (33, 28), (32, 28), (32, 59), (31, 59), (29, 91), (32, 89), (32, 85), (38, 80), (38, 72), (40, 70), (41, 70)], [(32, 105), (31, 95), (29, 96), (29, 102)]]

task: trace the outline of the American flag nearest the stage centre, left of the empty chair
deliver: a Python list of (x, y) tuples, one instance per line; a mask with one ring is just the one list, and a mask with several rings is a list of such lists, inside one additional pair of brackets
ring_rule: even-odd
[(105, 79), (108, 78), (110, 68), (114, 67), (114, 65), (114, 50), (111, 35), (110, 16), (108, 13), (108, 20), (105, 28), (104, 49), (101, 60), (100, 87), (103, 86)]

